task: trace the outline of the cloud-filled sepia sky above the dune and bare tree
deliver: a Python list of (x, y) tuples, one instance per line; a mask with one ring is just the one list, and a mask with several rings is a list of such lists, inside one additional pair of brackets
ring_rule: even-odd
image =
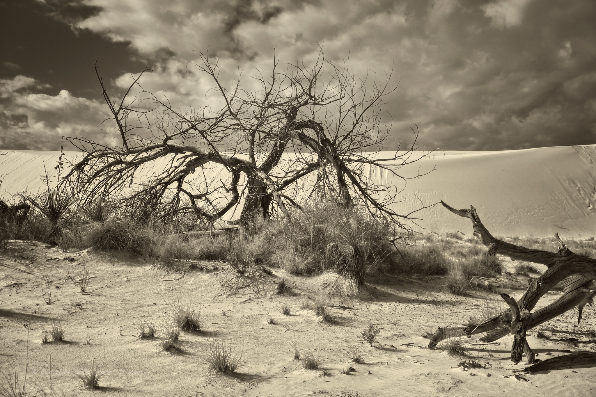
[[(114, 96), (141, 86), (185, 111), (231, 85), (318, 57), (385, 76), (388, 149), (508, 150), (596, 143), (594, 0), (0, 0), (0, 149), (113, 142)], [(399, 83), (399, 84), (398, 84)]]

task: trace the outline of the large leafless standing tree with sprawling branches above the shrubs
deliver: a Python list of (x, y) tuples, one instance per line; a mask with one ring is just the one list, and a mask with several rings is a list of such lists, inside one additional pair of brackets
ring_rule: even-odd
[[(322, 196), (344, 207), (365, 205), (371, 214), (393, 220), (402, 235), (409, 232), (403, 222), (412, 214), (393, 207), (401, 190), (368, 174), (370, 167), (380, 168), (404, 182), (421, 174), (403, 176), (399, 168), (428, 154), (412, 145), (378, 155), (389, 136), (381, 112), (396, 87), (389, 86), (390, 73), (383, 82), (374, 74), (358, 80), (322, 53), (312, 67), (296, 62), (278, 71), (274, 56), (269, 79), (259, 72), (256, 86), (243, 89), (238, 73), (226, 89), (217, 62), (200, 57), (194, 65), (212, 79), (219, 96), (213, 103), (221, 108), (182, 112), (153, 93), (133, 95), (142, 73), (114, 101), (95, 65), (120, 141), (70, 139), (85, 154), (65, 179), (79, 205), (94, 197), (123, 199), (120, 192), (132, 187), (126, 202), (160, 208), (161, 217), (187, 212), (213, 223), (230, 218), (242, 203), (238, 223), (247, 224), (255, 216), (288, 217), (299, 199)], [(417, 136), (416, 130), (414, 143)], [(166, 165), (139, 183), (139, 171), (156, 161)]]

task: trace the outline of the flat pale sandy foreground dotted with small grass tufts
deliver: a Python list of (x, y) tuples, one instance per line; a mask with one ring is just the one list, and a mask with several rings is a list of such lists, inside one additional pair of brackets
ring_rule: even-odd
[[(119, 396), (596, 395), (594, 367), (513, 376), (512, 370), (526, 365), (510, 365), (511, 335), (490, 344), (478, 336), (467, 340), (471, 354), (488, 363), (486, 369), (463, 370), (458, 363), (464, 358), (427, 349), (424, 336), (437, 326), (458, 326), (486, 305), (504, 305), (491, 292), (445, 293), (440, 277), (386, 277), (370, 283), (370, 294), (356, 299), (336, 294), (340, 284), (333, 274), (295, 277), (274, 270), (272, 281), (285, 277), (296, 295), (276, 295), (275, 283), (269, 283), (265, 293), (249, 299), (218, 297), (221, 276), (213, 273), (168, 273), (122, 252), (61, 252), (43, 243), (11, 242), (0, 263), (1, 370), (16, 371), (22, 380), (28, 360), (27, 382), (47, 389), (51, 358), (52, 387), (66, 396), (97, 395), (83, 389), (76, 376), (92, 358), (105, 372), (103, 391)], [(83, 264), (92, 276), (86, 295), (66, 280), (77, 276)], [(51, 305), (42, 299), (42, 273), (54, 280)], [(523, 291), (510, 293), (519, 298)], [(548, 293), (539, 306), (558, 295)], [(299, 309), (300, 301), (316, 296), (330, 298), (335, 324)], [(139, 322), (163, 323), (176, 300), (195, 304), (207, 332), (183, 333), (182, 354), (160, 351), (159, 338), (138, 340)], [(289, 316), (277, 311), (285, 303), (293, 309)], [(266, 312), (277, 324), (266, 322)], [(583, 318), (578, 325), (573, 310), (544, 324), (548, 339), (538, 339), (538, 330), (532, 330), (529, 343), (537, 358), (596, 351), (594, 311), (586, 307)], [(52, 321), (63, 324), (66, 342), (41, 343), (42, 330)], [(360, 335), (368, 324), (381, 328), (373, 348)], [(238, 374), (207, 373), (209, 338), (241, 352), (244, 366)], [(321, 368), (304, 370), (300, 360), (293, 360), (289, 340), (302, 353), (321, 355)], [(364, 364), (349, 362), (347, 352), (356, 346), (367, 354)], [(341, 374), (346, 366), (355, 371)]]

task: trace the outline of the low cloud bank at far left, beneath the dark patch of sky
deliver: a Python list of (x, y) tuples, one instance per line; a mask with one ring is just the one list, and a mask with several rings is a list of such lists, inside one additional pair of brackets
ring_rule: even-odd
[(34, 93), (44, 85), (31, 77), (0, 80), (0, 149), (73, 149), (63, 136), (85, 136), (107, 143), (113, 135), (101, 132), (108, 117), (104, 105), (76, 98), (67, 90), (58, 95)]

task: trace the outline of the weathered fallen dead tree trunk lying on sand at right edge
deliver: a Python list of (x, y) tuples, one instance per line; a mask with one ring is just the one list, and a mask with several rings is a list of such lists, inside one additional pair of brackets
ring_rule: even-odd
[[(461, 217), (470, 218), (474, 229), (474, 236), (488, 246), (488, 255), (504, 255), (511, 260), (528, 261), (547, 265), (548, 270), (537, 279), (530, 280), (526, 293), (519, 301), (505, 293), (501, 297), (509, 305), (509, 309), (488, 318), (480, 324), (470, 324), (464, 327), (440, 328), (430, 339), (429, 349), (435, 349), (437, 343), (448, 337), (467, 336), (487, 333), (480, 338), (482, 342), (494, 342), (501, 337), (513, 333), (515, 336), (511, 348), (511, 361), (518, 363), (522, 360), (522, 353), (526, 354), (528, 364), (533, 363), (533, 353), (526, 342), (526, 331), (539, 326), (564, 312), (578, 307), (578, 322), (582, 319), (582, 310), (586, 303), (592, 304), (596, 295), (596, 260), (582, 257), (570, 251), (555, 233), (560, 249), (558, 252), (541, 251), (525, 248), (519, 245), (496, 239), (482, 224), (476, 209), (455, 210), (443, 201), (441, 203), (449, 211)], [(562, 287), (563, 296), (547, 307), (533, 311), (539, 299), (555, 286)]]

